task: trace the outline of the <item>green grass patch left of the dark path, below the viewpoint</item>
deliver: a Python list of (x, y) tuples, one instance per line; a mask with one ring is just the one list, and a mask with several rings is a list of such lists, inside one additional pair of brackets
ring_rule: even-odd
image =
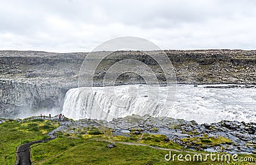
[(0, 164), (14, 164), (16, 147), (38, 139), (48, 138), (47, 132), (58, 127), (58, 123), (47, 120), (29, 120), (19, 123), (7, 120), (0, 124)]

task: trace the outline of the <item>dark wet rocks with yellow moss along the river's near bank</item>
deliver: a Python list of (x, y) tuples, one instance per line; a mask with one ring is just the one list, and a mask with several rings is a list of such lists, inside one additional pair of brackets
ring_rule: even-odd
[(256, 123), (252, 122), (221, 121), (198, 124), (193, 120), (167, 117), (161, 120), (147, 115), (132, 115), (103, 125), (112, 128), (113, 134), (122, 136), (127, 136), (127, 131), (132, 134), (164, 134), (173, 142), (193, 150), (211, 151), (216, 146), (221, 146), (223, 152), (256, 153)]

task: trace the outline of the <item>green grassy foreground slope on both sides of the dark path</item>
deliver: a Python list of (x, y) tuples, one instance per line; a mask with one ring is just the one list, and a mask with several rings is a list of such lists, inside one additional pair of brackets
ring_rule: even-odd
[[(20, 143), (28, 143), (36, 139), (47, 138), (46, 133), (58, 127), (59, 124), (49, 120), (30, 120), (18, 123), (8, 120), (0, 124), (0, 164), (15, 162), (15, 148)], [(131, 133), (129, 138), (112, 136), (109, 129), (86, 128), (83, 134), (59, 133), (56, 138), (47, 143), (33, 145), (31, 148), (34, 164), (220, 164), (221, 162), (166, 162), (166, 150), (157, 150), (148, 146), (125, 145), (116, 143), (115, 148), (106, 148), (108, 141), (124, 141), (142, 143), (149, 146), (172, 148), (186, 155), (181, 146), (172, 141), (164, 141), (166, 136), (156, 134)], [(97, 141), (96, 141), (96, 140)], [(183, 150), (183, 151), (182, 151)], [(191, 154), (193, 156), (193, 153)], [(240, 155), (241, 157), (247, 155)], [(256, 160), (256, 157), (254, 156)], [(246, 164), (246, 163), (245, 163)]]

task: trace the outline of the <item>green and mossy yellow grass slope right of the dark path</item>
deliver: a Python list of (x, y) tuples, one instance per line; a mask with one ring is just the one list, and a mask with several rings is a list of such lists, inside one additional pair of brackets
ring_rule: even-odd
[[(139, 134), (131, 136), (112, 136), (109, 129), (103, 130), (102, 134), (91, 128), (87, 134), (62, 134), (60, 138), (34, 145), (31, 148), (32, 161), (34, 164), (220, 164), (223, 162), (166, 162), (164, 155), (166, 150), (150, 148), (158, 146), (180, 150), (172, 151), (172, 154), (186, 155), (189, 151), (184, 150), (172, 141), (164, 141), (166, 136), (157, 134)], [(106, 148), (107, 141), (116, 141), (115, 148)], [(141, 143), (148, 146), (125, 145), (118, 142)], [(190, 151), (191, 152), (191, 151)], [(202, 153), (202, 152), (199, 152)], [(205, 153), (205, 152), (204, 152)], [(193, 156), (193, 153), (191, 153)], [(240, 155), (241, 157), (247, 155)], [(256, 160), (256, 157), (254, 157)]]

